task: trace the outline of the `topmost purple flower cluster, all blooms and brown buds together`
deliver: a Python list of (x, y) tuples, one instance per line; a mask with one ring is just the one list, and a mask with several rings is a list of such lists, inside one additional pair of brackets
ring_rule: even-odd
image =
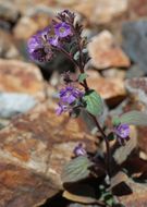
[(60, 48), (65, 38), (72, 35), (70, 23), (62, 22), (60, 19), (59, 22), (52, 21), (49, 27), (38, 32), (28, 40), (27, 48), (30, 58), (39, 62), (50, 61), (54, 50)]

